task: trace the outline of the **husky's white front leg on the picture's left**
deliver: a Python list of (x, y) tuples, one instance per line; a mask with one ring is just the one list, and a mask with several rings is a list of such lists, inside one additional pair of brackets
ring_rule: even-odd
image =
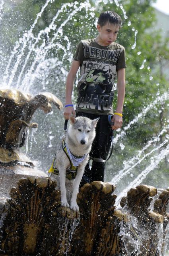
[(66, 169), (64, 167), (59, 167), (59, 179), (60, 179), (60, 191), (61, 191), (61, 205), (64, 207), (69, 207), (67, 197), (66, 197)]

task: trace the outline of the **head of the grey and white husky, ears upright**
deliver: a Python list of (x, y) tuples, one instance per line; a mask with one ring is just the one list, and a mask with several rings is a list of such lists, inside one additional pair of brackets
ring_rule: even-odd
[(95, 138), (95, 127), (99, 118), (91, 120), (88, 117), (70, 116), (68, 135), (79, 145), (90, 145)]

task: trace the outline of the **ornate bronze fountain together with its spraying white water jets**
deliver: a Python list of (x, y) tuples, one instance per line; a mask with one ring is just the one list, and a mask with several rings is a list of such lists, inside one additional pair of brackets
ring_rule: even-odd
[[(97, 1), (98, 6), (100, 2)], [(106, 4), (107, 1), (103, 2)], [(117, 0), (114, 2), (122, 10), (124, 19), (127, 19), (123, 6)], [(61, 206), (60, 191), (57, 190), (56, 182), (47, 177), (46, 162), (51, 163), (53, 158), (52, 154), (51, 159), (50, 156), (46, 157), (51, 152), (48, 150), (52, 149), (54, 153), (54, 145), (62, 135), (62, 131), (58, 129), (61, 122), (59, 113), (51, 111), (51, 103), (62, 109), (62, 103), (58, 98), (63, 97), (68, 72), (66, 65), (72, 58), (70, 38), (67, 34), (64, 35), (64, 29), (66, 26), (69, 27), (71, 22), (76, 23), (76, 14), (83, 12), (84, 16), (93, 17), (94, 12), (89, 0), (81, 4), (63, 3), (53, 16), (51, 14), (49, 26), (35, 30), (38, 20), (52, 3), (54, 0), (44, 1), (30, 29), (16, 41), (8, 58), (4, 58), (6, 65), (2, 67), (0, 256), (164, 256), (169, 229), (169, 189), (159, 190), (140, 183), (169, 153), (168, 123), (132, 158), (125, 159), (124, 167), (113, 178), (109, 178), (111, 182), (94, 181), (85, 184), (78, 194), (79, 212)], [(3, 20), (4, 4), (2, 0), (0, 21)], [(62, 17), (64, 13), (68, 15)], [(128, 26), (131, 24), (129, 20)], [(132, 33), (134, 38), (131, 49), (134, 50), (139, 31), (132, 28)], [(146, 59), (142, 61), (140, 70), (145, 66)], [(56, 90), (58, 83), (61, 86)], [(41, 84), (42, 92), (38, 93)], [(56, 84), (55, 88), (53, 84)], [(52, 93), (45, 92), (46, 89), (50, 89)], [(157, 94), (153, 102), (128, 122), (123, 131), (116, 134), (114, 144), (117, 145), (119, 142), (123, 150), (125, 146), (122, 139), (125, 138), (126, 132), (132, 125), (143, 120), (148, 111), (155, 109), (159, 102), (166, 101), (168, 96), (169, 91)], [(49, 144), (48, 147), (45, 145), (45, 160), (41, 167), (35, 165), (34, 159), (31, 160), (30, 150), (29, 157), (27, 150), (26, 153), (21, 150), (25, 144), (29, 144), (29, 149), (31, 148), (35, 155), (35, 144), (30, 147), (31, 138), (35, 140), (35, 136), (33, 133), (29, 135), (30, 129), (37, 130), (37, 133), (43, 136), (39, 131), (45, 120), (41, 122), (43, 115), (37, 113), (38, 108), (47, 113), (47, 123), (52, 123), (56, 133), (54, 137), (50, 125), (45, 132), (43, 131), (49, 133)], [(35, 122), (30, 123), (33, 118)], [(37, 120), (40, 125), (38, 129)], [(165, 139), (161, 141), (161, 137)], [(36, 145), (41, 148), (39, 143), (40, 140), (37, 140)], [(47, 144), (47, 140), (44, 144)], [(43, 148), (41, 153), (42, 151)], [(158, 157), (153, 155), (156, 152)], [(145, 161), (147, 166), (140, 171), (140, 165)], [(133, 178), (134, 168), (138, 168), (138, 171), (135, 171)], [(125, 182), (125, 187), (119, 191), (119, 183), (122, 184), (123, 177), (126, 179), (127, 175), (131, 176), (132, 181)], [(116, 191), (118, 196), (115, 194)]]

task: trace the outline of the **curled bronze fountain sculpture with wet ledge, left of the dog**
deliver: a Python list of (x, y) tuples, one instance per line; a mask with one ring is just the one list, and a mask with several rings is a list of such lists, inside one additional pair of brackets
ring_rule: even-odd
[[(61, 101), (52, 93), (39, 93), (32, 97), (17, 89), (0, 89), (0, 195), (8, 197), (8, 189), (24, 175), (45, 176), (34, 168), (31, 161), (19, 148), (25, 143), (27, 129), (37, 128), (30, 123), (37, 108), (49, 113), (51, 103), (58, 109)], [(47, 176), (47, 175), (46, 175)]]

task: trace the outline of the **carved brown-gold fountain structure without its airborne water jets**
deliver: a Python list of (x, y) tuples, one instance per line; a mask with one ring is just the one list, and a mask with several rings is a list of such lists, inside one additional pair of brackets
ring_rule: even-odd
[(37, 127), (33, 113), (49, 113), (51, 103), (62, 108), (51, 93), (0, 90), (0, 255), (164, 255), (169, 189), (150, 206), (157, 189), (138, 185), (117, 208), (115, 186), (94, 181), (80, 189), (73, 212), (61, 206), (56, 182), (19, 151), (26, 129)]

